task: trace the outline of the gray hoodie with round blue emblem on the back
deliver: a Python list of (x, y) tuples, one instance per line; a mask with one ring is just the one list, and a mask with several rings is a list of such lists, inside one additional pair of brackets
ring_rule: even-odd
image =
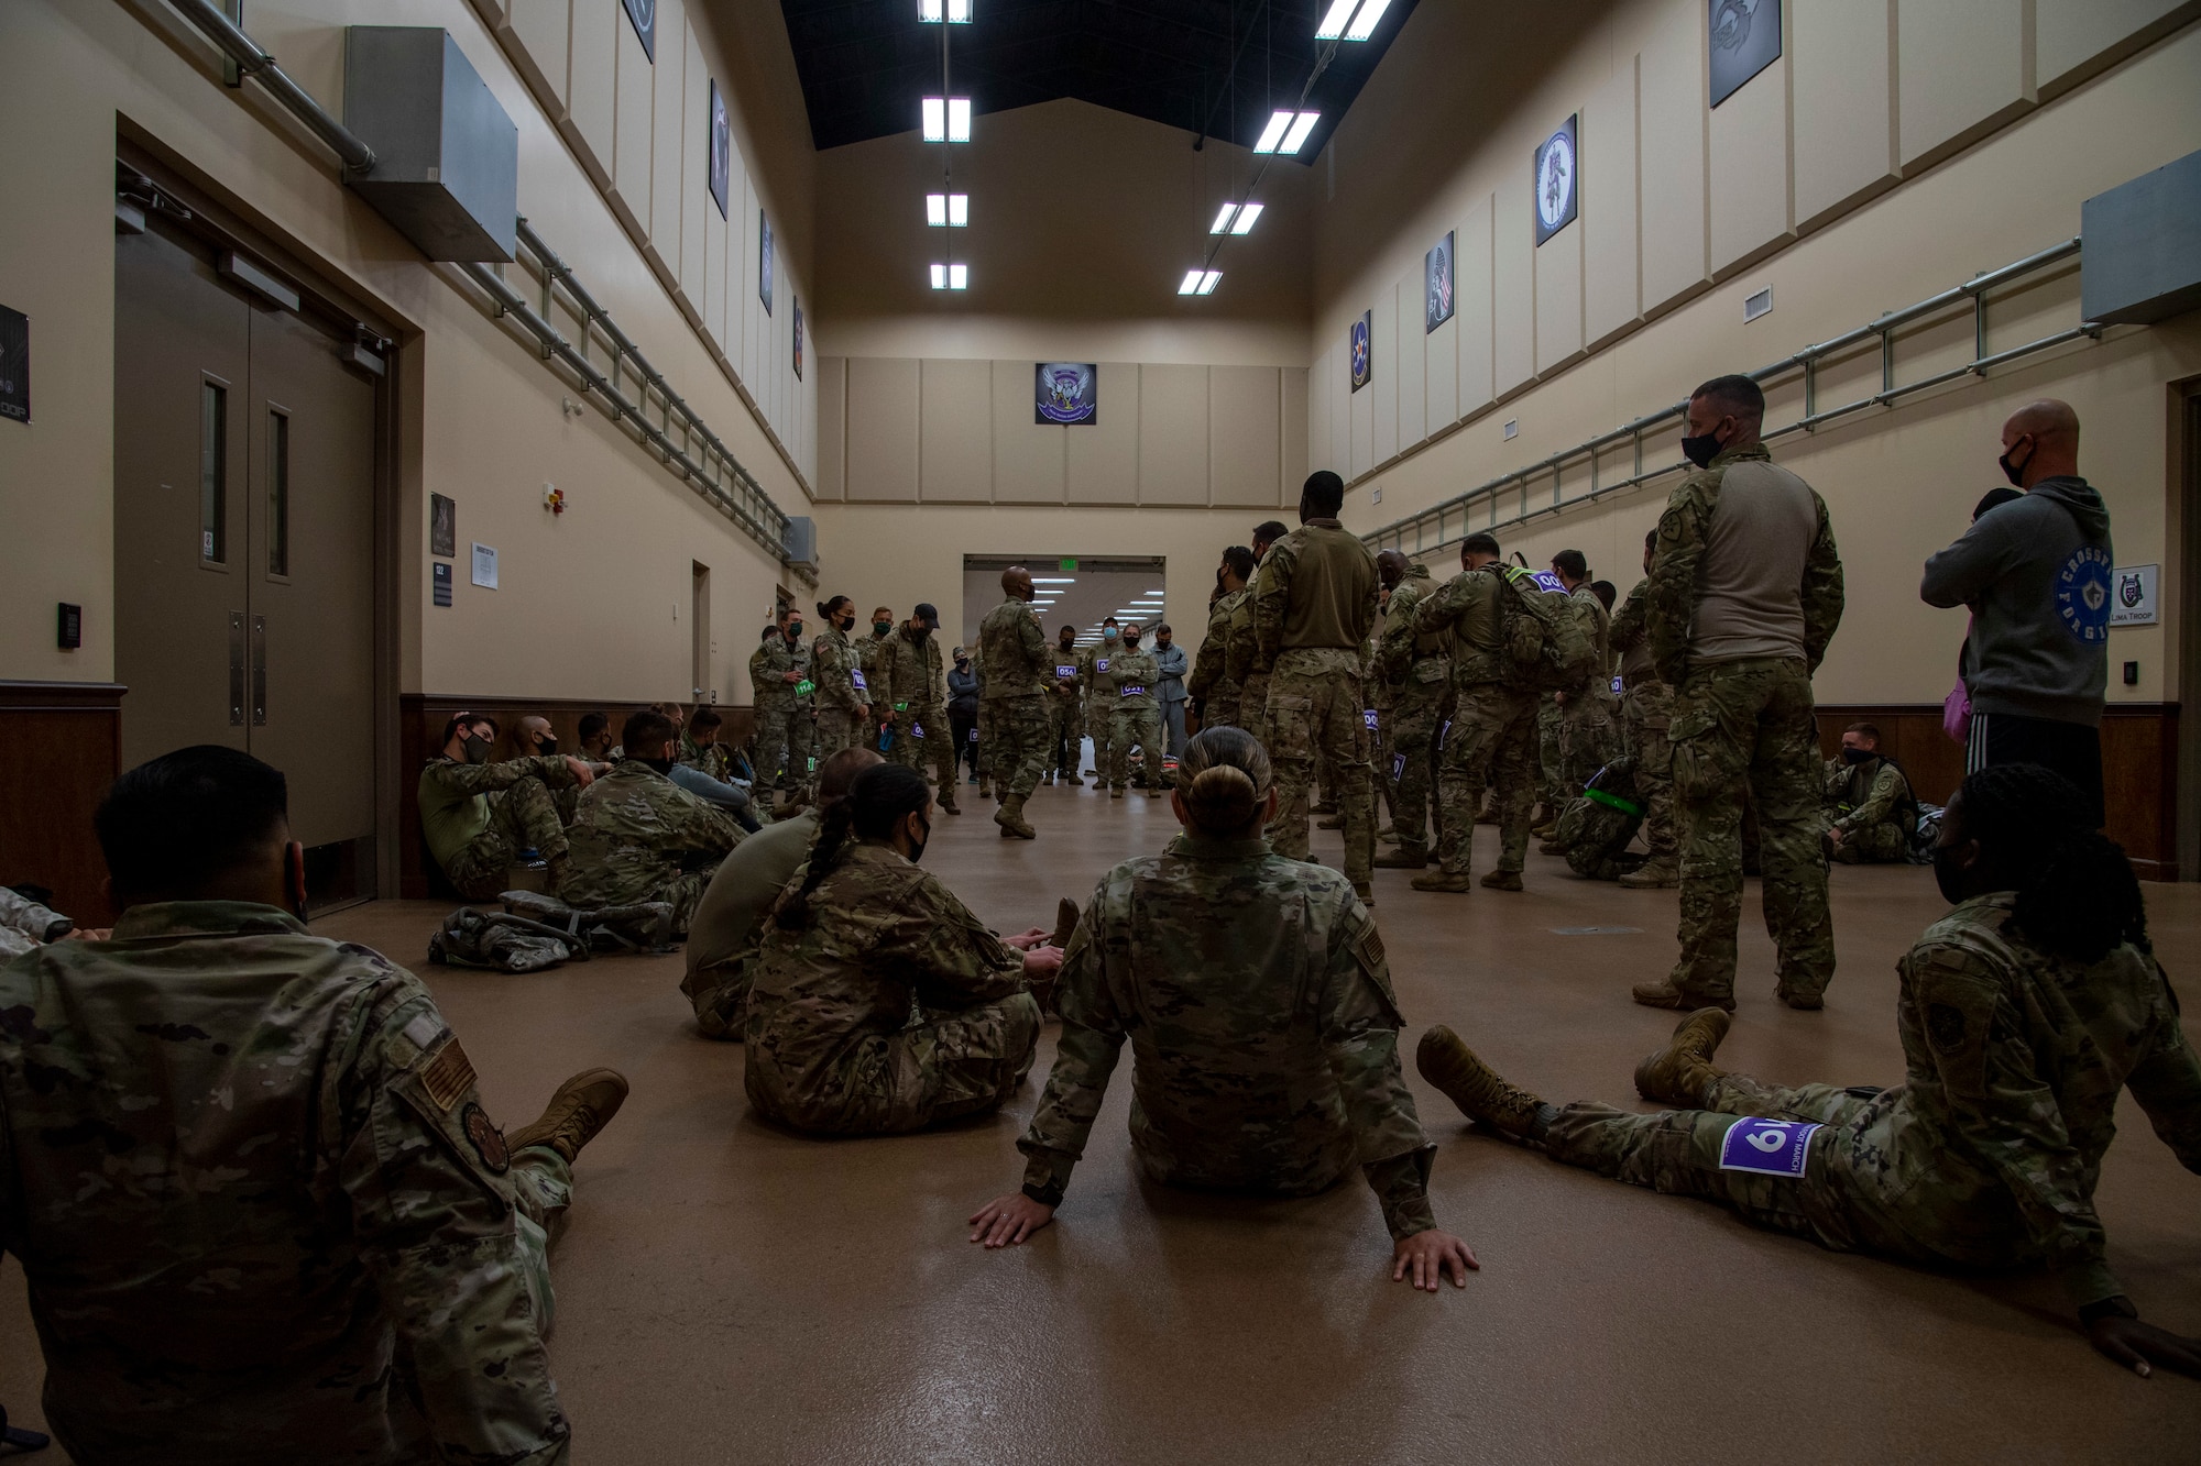
[(1972, 711), (2100, 726), (2115, 564), (2082, 478), (2040, 480), (1926, 561), (1919, 597), (1972, 608)]

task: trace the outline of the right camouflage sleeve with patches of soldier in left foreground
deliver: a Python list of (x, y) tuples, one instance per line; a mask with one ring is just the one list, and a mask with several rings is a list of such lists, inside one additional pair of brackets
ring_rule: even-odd
[(438, 1457), (566, 1462), (504, 1138), (427, 991), (376, 1008), (339, 1087), (341, 1182)]

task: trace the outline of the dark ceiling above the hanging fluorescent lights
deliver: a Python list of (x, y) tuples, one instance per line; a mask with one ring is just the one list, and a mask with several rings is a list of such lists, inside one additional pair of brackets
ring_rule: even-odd
[[(973, 0), (971, 24), (931, 26), (918, 0), (779, 0), (821, 150), (913, 132), (918, 99), (940, 95), (942, 33), (951, 90), (979, 114), (1076, 97), (1250, 147), (1274, 108), (1299, 101), (1327, 4)], [(1391, 0), (1371, 40), (1338, 46), (1307, 99), (1323, 121), (1301, 163), (1323, 150), (1413, 4)]]

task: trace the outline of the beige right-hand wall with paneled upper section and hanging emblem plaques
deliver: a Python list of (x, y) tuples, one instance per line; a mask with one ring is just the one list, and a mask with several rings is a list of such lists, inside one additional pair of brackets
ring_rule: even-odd
[[(1356, 528), (2067, 240), (2084, 198), (2201, 147), (2201, 29), (2164, 37), (2201, 13), (2194, 4), (1792, 4), (1783, 59), (1717, 110), (1706, 108), (1701, 4), (1572, 13), (1580, 24), (1538, 13), (1530, 29), (1490, 7), (1420, 7), (1332, 143), (1336, 198), (1314, 209), (1307, 456), (1354, 480)], [(1574, 42), (1538, 62), (1550, 35)], [(1488, 88), (1444, 86), (1475, 51), (1527, 64)], [(1580, 218), (1534, 249), (1532, 154), (1576, 112)], [(1422, 253), (1448, 229), (1461, 240), (1459, 310), (1424, 337)], [(1741, 302), (1763, 286), (1774, 310), (1745, 326)], [(1362, 310), (1376, 313), (1378, 370), (1354, 394), (1345, 335)], [(2078, 273), (2051, 271), (1990, 308), (1988, 348), (2073, 324)], [(1970, 350), (1968, 315), (1904, 332), (1897, 381)], [(2142, 680), (2113, 678), (2111, 698), (2177, 698), (2170, 623), (2186, 588), (2170, 564), (2168, 385), (2194, 374), (2201, 321), (2183, 317), (1785, 438), (1776, 453), (1827, 497), (1849, 566), (1851, 612), (1818, 696), (1937, 702), (1948, 691), (1963, 616), (1917, 601), (1919, 561), (1999, 482), (2001, 418), (2065, 396), (2087, 423), (2084, 469), (2109, 497), (2120, 564), (2164, 566), (2166, 625), (2113, 636), (2111, 658), (2137, 660)], [(1869, 348), (1822, 374), (1818, 405), (1873, 387)], [(1796, 416), (1800, 392), (1776, 390), (1767, 423)], [(1508, 420), (1519, 423), (1512, 440)], [(1651, 464), (1677, 458), (1673, 434), (1646, 451)], [(1607, 464), (1605, 478), (1629, 471)], [(1664, 486), (1503, 537), (1532, 561), (1583, 548), (1627, 590)], [(1550, 502), (1550, 478), (1538, 493)]]

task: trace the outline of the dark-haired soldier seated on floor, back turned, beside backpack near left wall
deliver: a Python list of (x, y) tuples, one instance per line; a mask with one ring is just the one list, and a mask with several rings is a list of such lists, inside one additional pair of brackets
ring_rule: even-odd
[(671, 720), (636, 713), (621, 746), (627, 757), (581, 795), (572, 823), (572, 867), (557, 894), (577, 907), (665, 900), (674, 931), (689, 918), (711, 872), (742, 843), (742, 825), (667, 777)]

